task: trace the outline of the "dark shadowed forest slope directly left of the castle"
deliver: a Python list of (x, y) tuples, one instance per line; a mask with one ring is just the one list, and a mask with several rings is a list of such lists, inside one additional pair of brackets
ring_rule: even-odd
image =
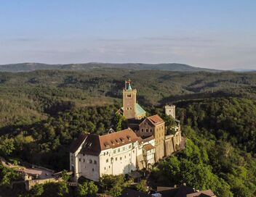
[(4, 140), (0, 144), (3, 153), (0, 153), (12, 153), (57, 170), (68, 169), (68, 151), (74, 138), (83, 132), (106, 133), (116, 110), (116, 106), (90, 106), (59, 112), (36, 124), (12, 127), (12, 134), (1, 136)]

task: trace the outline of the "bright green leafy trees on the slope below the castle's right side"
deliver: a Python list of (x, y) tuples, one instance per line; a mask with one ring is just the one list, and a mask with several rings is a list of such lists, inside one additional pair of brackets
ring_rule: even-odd
[(183, 184), (199, 189), (212, 189), (217, 196), (233, 196), (230, 186), (212, 172), (208, 158), (198, 146), (187, 140), (185, 151), (159, 163), (153, 177), (164, 185)]

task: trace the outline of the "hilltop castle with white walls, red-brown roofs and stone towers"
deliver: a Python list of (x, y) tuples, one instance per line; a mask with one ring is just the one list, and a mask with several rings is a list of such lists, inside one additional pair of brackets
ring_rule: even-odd
[(104, 174), (150, 169), (180, 149), (182, 137), (175, 106), (165, 106), (165, 113), (177, 122), (175, 135), (167, 135), (164, 120), (158, 114), (146, 117), (145, 110), (137, 104), (137, 90), (132, 89), (130, 80), (125, 81), (123, 107), (117, 113), (127, 119), (127, 129), (105, 135), (82, 134), (72, 143), (70, 169), (74, 180), (84, 176), (98, 181)]

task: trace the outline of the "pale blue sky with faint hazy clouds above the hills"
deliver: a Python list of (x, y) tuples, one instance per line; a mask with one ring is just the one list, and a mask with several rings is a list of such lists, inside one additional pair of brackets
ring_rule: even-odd
[(0, 64), (256, 69), (255, 0), (1, 0)]

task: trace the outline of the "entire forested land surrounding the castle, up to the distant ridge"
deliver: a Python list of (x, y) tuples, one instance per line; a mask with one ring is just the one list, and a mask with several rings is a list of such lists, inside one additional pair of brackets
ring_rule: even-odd
[[(255, 72), (0, 72), (0, 156), (69, 169), (68, 150), (79, 133), (103, 134), (114, 124), (127, 78), (148, 115), (164, 117), (164, 104), (176, 104), (187, 139), (185, 151), (153, 168), (159, 185), (187, 183), (217, 196), (255, 196)], [(1, 173), (4, 196), (1, 183), (15, 179)]]

